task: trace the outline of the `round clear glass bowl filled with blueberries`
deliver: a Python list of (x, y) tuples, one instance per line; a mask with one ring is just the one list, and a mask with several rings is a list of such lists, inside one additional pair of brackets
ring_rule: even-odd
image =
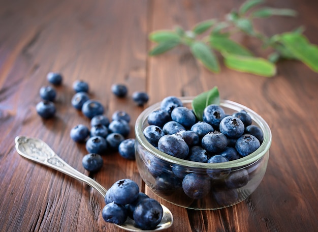
[(140, 176), (156, 195), (180, 207), (236, 205), (265, 175), (271, 130), (259, 114), (236, 102), (204, 99), (198, 110), (195, 100), (168, 96), (139, 115)]

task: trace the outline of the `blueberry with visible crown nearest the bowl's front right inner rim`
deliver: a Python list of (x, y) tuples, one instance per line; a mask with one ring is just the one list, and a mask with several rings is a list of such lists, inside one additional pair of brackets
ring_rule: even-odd
[(260, 146), (260, 141), (251, 134), (243, 134), (235, 143), (235, 149), (241, 156), (255, 152)]

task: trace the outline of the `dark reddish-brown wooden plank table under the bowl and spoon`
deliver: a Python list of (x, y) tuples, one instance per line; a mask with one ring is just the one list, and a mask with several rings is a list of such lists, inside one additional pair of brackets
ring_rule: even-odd
[[(174, 215), (167, 231), (317, 231), (318, 229), (318, 74), (297, 61), (277, 65), (273, 78), (236, 72), (221, 65), (213, 74), (196, 62), (188, 48), (150, 57), (154, 30), (186, 29), (209, 18), (221, 18), (242, 1), (0, 1), (0, 231), (121, 231), (105, 223), (99, 193), (72, 178), (21, 158), (17, 135), (38, 137), (71, 166), (105, 187), (130, 178), (160, 200)], [(267, 35), (305, 25), (305, 35), (318, 44), (318, 2), (269, 1), (267, 6), (292, 8), (296, 18), (256, 21)], [(256, 54), (266, 54), (258, 41), (238, 38)], [(46, 74), (63, 74), (56, 88), (57, 113), (42, 120), (36, 112)], [(245, 201), (222, 210), (187, 210), (155, 196), (142, 182), (135, 161), (118, 153), (104, 156), (97, 174), (82, 166), (84, 144), (70, 138), (77, 124), (89, 125), (71, 105), (75, 80), (89, 82), (90, 96), (111, 117), (125, 110), (134, 122), (144, 109), (132, 94), (146, 91), (153, 104), (169, 95), (195, 96), (217, 85), (221, 98), (254, 109), (273, 134), (266, 175)], [(118, 99), (113, 83), (129, 87)], [(145, 106), (146, 107), (146, 106)]]

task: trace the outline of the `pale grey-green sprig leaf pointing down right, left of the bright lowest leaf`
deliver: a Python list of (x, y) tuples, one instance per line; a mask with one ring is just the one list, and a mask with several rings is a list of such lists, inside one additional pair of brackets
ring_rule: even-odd
[(192, 54), (200, 62), (202, 62), (207, 69), (215, 73), (220, 71), (218, 61), (208, 45), (203, 42), (196, 41), (190, 46), (190, 49)]

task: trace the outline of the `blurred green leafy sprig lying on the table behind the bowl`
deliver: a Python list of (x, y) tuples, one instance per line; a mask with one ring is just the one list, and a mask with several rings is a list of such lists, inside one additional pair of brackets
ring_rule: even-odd
[[(226, 67), (260, 76), (275, 76), (275, 63), (280, 59), (301, 61), (314, 72), (318, 72), (318, 46), (311, 44), (302, 34), (303, 27), (271, 37), (255, 30), (252, 23), (255, 18), (297, 15), (297, 12), (291, 9), (270, 7), (256, 9), (263, 3), (263, 0), (247, 0), (238, 10), (234, 9), (227, 14), (224, 20), (206, 20), (189, 31), (177, 26), (175, 30), (152, 32), (149, 34), (149, 39), (157, 45), (149, 51), (149, 55), (162, 54), (178, 45), (185, 45), (189, 47), (194, 57), (213, 73), (220, 72), (215, 52), (221, 54)], [(199, 35), (204, 33), (208, 35), (199, 38)], [(250, 50), (231, 38), (235, 33), (257, 38), (263, 43), (264, 48), (271, 48), (273, 52), (266, 58), (256, 57)]]

